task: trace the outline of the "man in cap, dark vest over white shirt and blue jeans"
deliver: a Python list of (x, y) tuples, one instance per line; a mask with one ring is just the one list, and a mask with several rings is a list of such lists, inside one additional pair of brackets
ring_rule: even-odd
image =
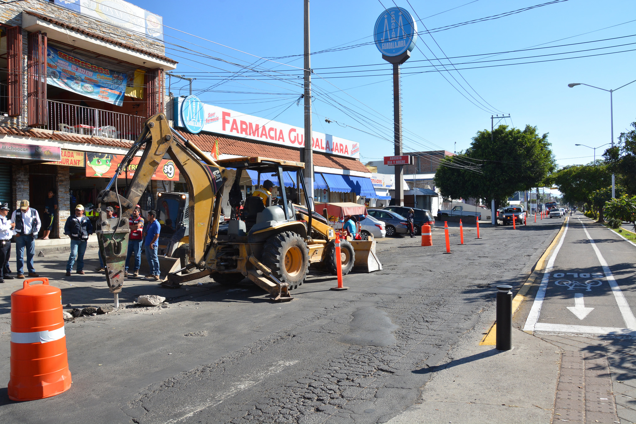
[(13, 211), (11, 222), (15, 224), (13, 234), (15, 234), (15, 264), (18, 268), (18, 278), (24, 278), (22, 268), (24, 268), (25, 248), (27, 250), (29, 277), (39, 277), (33, 265), (33, 256), (36, 253), (35, 237), (38, 235), (42, 225), (38, 211), (29, 208), (28, 200), (20, 200), (20, 209)]

